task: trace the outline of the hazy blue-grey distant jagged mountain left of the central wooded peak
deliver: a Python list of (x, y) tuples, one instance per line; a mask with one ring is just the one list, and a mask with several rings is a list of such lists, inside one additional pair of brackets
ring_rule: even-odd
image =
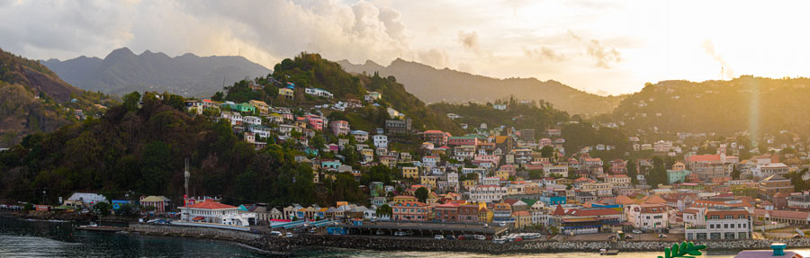
[(242, 57), (170, 58), (149, 50), (135, 55), (115, 49), (107, 57), (41, 61), (67, 83), (89, 91), (122, 95), (132, 91), (168, 91), (185, 96), (211, 95), (225, 84), (245, 77), (266, 76), (270, 70)]

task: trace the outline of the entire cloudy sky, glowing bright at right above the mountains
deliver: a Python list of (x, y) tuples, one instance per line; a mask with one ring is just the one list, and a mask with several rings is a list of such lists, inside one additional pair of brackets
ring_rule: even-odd
[(810, 76), (810, 1), (0, 1), (0, 48), (35, 59), (302, 51), (395, 58), (590, 93), (742, 75)]

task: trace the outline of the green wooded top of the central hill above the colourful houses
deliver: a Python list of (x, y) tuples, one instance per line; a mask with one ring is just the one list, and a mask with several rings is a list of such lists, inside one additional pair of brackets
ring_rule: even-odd
[(311, 53), (302, 53), (293, 59), (284, 59), (274, 67), (272, 76), (284, 83), (294, 83), (296, 88), (325, 89), (335, 94), (335, 97), (341, 101), (363, 100), (366, 93), (373, 91), (382, 93), (382, 100), (376, 102), (380, 105), (379, 107), (367, 105), (356, 111), (356, 115), (359, 117), (353, 115), (347, 117), (353, 129), (383, 128), (385, 120), (388, 119), (388, 113), (385, 110), (391, 107), (410, 117), (416, 129), (461, 131), (458, 125), (444, 114), (430, 111), (425, 102), (409, 93), (394, 76), (383, 77), (376, 73), (354, 76), (347, 73), (338, 63)]

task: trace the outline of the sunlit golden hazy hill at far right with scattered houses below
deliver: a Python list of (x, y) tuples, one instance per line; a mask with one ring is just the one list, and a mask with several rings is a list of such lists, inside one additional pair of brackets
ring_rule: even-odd
[[(676, 132), (805, 134), (810, 127), (810, 78), (742, 76), (730, 81), (663, 81), (627, 97), (611, 120), (631, 134)], [(657, 132), (656, 132), (657, 128)], [(751, 131), (754, 133), (753, 131)]]

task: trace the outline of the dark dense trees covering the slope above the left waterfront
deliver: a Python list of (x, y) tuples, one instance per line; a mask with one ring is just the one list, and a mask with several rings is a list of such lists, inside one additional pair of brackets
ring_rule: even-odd
[[(182, 200), (184, 159), (190, 163), (190, 193), (220, 195), (226, 202), (329, 203), (364, 200), (345, 175), (317, 189), (310, 165), (293, 161), (292, 145), (255, 151), (226, 121), (189, 116), (176, 95), (130, 93), (100, 119), (24, 138), (0, 156), (0, 197), (51, 203), (72, 191), (166, 195)], [(349, 175), (351, 176), (351, 175)], [(354, 188), (349, 188), (353, 187)], [(328, 202), (329, 201), (329, 202)]]

